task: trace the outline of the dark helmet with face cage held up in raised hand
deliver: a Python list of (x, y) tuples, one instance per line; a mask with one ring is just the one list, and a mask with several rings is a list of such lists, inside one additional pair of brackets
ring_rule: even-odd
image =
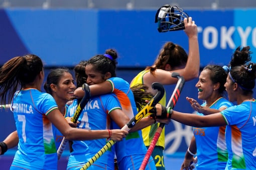
[(166, 4), (157, 10), (155, 22), (158, 23), (158, 31), (166, 32), (185, 29), (184, 18), (189, 17), (182, 8)]

